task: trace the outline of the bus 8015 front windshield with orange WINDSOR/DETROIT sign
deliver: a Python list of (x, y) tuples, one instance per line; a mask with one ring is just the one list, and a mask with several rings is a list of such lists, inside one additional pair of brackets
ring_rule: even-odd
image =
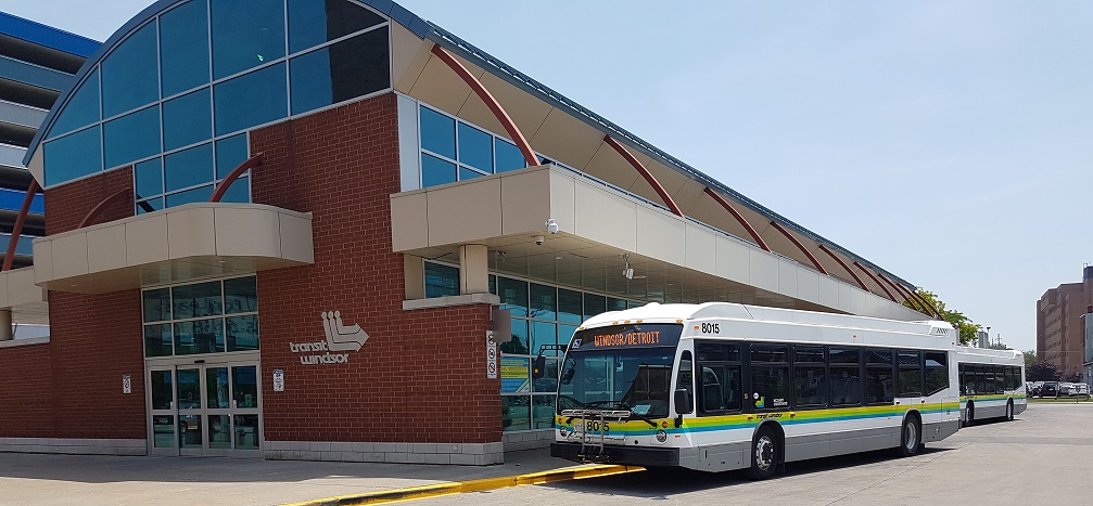
[(625, 410), (668, 415), (672, 362), (681, 325), (626, 325), (580, 330), (559, 381), (557, 412)]

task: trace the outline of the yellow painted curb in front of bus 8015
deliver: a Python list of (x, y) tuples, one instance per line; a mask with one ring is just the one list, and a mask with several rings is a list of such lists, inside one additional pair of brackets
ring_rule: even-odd
[(553, 483), (559, 481), (580, 480), (583, 478), (607, 477), (621, 474), (624, 472), (644, 471), (645, 468), (637, 466), (581, 466), (573, 468), (553, 469), (550, 471), (532, 472), (528, 474), (516, 474), (512, 477), (485, 478), (482, 480), (471, 480), (451, 483), (437, 483), (434, 485), (411, 486), (407, 489), (395, 489), (381, 492), (368, 492), (364, 494), (338, 495), (322, 499), (293, 503), (285, 506), (342, 506), (351, 504), (385, 504), (398, 501), (420, 499), (424, 497), (436, 497), (439, 495), (461, 494), (463, 492), (482, 492), (487, 490), (504, 489), (517, 485), (538, 485), (542, 483)]

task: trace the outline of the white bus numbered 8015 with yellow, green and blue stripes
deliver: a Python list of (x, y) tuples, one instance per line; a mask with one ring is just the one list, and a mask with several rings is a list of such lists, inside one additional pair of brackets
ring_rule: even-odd
[(751, 468), (922, 444), (960, 429), (956, 332), (731, 303), (592, 317), (559, 375), (551, 455), (581, 462)]

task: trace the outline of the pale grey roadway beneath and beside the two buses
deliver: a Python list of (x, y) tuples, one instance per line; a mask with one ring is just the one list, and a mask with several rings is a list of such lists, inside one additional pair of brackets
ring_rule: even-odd
[(420, 505), (1093, 504), (1093, 405), (1033, 403), (912, 458), (878, 451), (790, 463), (755, 482), (742, 471), (644, 471), (416, 501)]

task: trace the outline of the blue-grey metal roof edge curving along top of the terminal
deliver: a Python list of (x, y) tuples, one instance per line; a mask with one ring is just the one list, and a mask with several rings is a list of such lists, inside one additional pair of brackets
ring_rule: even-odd
[[(23, 158), (23, 164), (24, 165), (30, 164), (31, 157), (37, 150), (38, 145), (42, 142), (43, 136), (52, 126), (54, 121), (56, 121), (57, 113), (61, 109), (63, 109), (66, 105), (68, 105), (68, 101), (71, 98), (72, 92), (74, 92), (77, 88), (79, 88), (80, 84), (83, 84), (83, 81), (86, 77), (86, 75), (89, 74), (89, 72), (91, 71), (91, 69), (94, 68), (94, 65), (96, 63), (98, 63), (101, 60), (103, 60), (114, 49), (115, 46), (117, 46), (122, 39), (125, 39), (137, 27), (143, 25), (144, 22), (146, 22), (151, 17), (155, 16), (160, 12), (167, 10), (168, 8), (174, 7), (177, 3), (180, 3), (180, 1), (181, 0), (158, 0), (158, 1), (156, 1), (155, 3), (149, 5), (144, 10), (142, 10), (139, 14), (137, 14), (136, 16), (133, 16), (131, 20), (129, 20), (125, 25), (122, 25), (120, 28), (118, 28), (118, 31), (115, 32), (114, 35), (111, 35), (109, 39), (107, 39), (105, 43), (103, 43), (103, 45), (98, 48), (98, 50), (96, 50), (94, 52), (94, 55), (92, 55), (87, 59), (87, 61), (83, 64), (83, 67), (80, 69), (80, 72), (77, 74), (77, 79), (75, 79), (77, 85), (72, 86), (72, 88), (70, 88), (70, 89), (66, 91), (63, 94), (61, 94), (60, 98), (58, 98), (58, 100), (56, 103), (56, 104), (58, 104), (60, 106), (59, 107), (54, 107), (49, 111), (49, 115), (46, 117), (45, 121), (43, 122), (43, 126), (40, 129), (38, 129), (38, 132), (35, 134), (34, 140), (31, 142), (31, 146), (30, 146), (30, 148), (26, 152), (26, 156)], [(693, 179), (693, 180), (695, 180), (695, 181), (697, 181), (697, 182), (700, 182), (702, 184), (705, 184), (705, 185), (709, 186), (710, 189), (717, 190), (717, 191), (719, 191), (721, 193), (725, 193), (725, 194), (731, 196), (733, 200), (736, 200), (736, 201), (740, 202), (741, 204), (748, 206), (750, 209), (754, 210), (755, 213), (759, 213), (760, 215), (765, 216), (765, 217), (767, 217), (767, 218), (769, 218), (772, 220), (778, 221), (779, 224), (784, 225), (785, 227), (788, 227), (792, 231), (795, 231), (797, 233), (800, 233), (801, 236), (804, 236), (804, 237), (811, 239), (812, 241), (825, 244), (828, 248), (831, 248), (832, 250), (835, 250), (836, 252), (838, 252), (838, 253), (841, 253), (841, 254), (843, 254), (843, 255), (845, 255), (845, 256), (847, 256), (849, 258), (853, 258), (854, 261), (859, 262), (862, 265), (868, 266), (869, 268), (872, 268), (874, 270), (878, 270), (878, 272), (884, 274), (890, 279), (893, 279), (893, 280), (895, 280), (897, 282), (901, 282), (905, 287), (908, 287), (912, 290), (915, 289), (915, 285), (914, 284), (912, 284), (912, 282), (909, 282), (909, 281), (907, 281), (907, 280), (905, 280), (903, 278), (901, 278), (900, 276), (896, 276), (896, 275), (890, 273), (889, 270), (880, 267), (879, 265), (877, 265), (877, 264), (874, 264), (874, 263), (872, 263), (872, 262), (870, 262), (870, 261), (868, 261), (868, 260), (866, 260), (866, 258), (863, 258), (863, 257), (861, 257), (861, 256), (859, 256), (859, 255), (850, 252), (849, 250), (847, 250), (847, 249), (845, 249), (845, 248), (836, 244), (834, 241), (830, 241), (830, 240), (823, 238), (822, 236), (820, 236), (820, 234), (818, 234), (818, 233), (815, 233), (815, 232), (813, 232), (813, 231), (811, 231), (811, 230), (809, 230), (809, 229), (807, 229), (807, 228), (804, 228), (804, 227), (802, 227), (800, 225), (797, 225), (796, 222), (794, 222), (792, 220), (786, 218), (785, 216), (781, 216), (778, 213), (775, 213), (774, 210), (772, 210), (772, 209), (763, 206), (762, 204), (760, 204), (760, 203), (757, 203), (757, 202), (755, 202), (755, 201), (753, 201), (753, 200), (744, 196), (742, 193), (737, 192), (736, 190), (732, 190), (728, 185), (726, 185), (726, 184), (721, 183), (720, 181), (717, 181), (716, 179), (707, 176), (706, 173), (702, 172), (701, 170), (695, 169), (694, 167), (691, 167), (690, 165), (683, 162), (679, 158), (675, 158), (674, 156), (669, 155), (668, 153), (661, 150), (660, 148), (654, 146), (653, 144), (650, 144), (650, 143), (642, 140), (637, 135), (634, 135), (634, 134), (630, 133), (628, 131), (626, 131), (622, 126), (619, 126), (618, 124), (615, 124), (615, 123), (611, 122), (610, 120), (608, 120), (608, 119), (606, 119), (606, 118), (597, 115), (596, 112), (592, 112), (590, 109), (588, 109), (588, 108), (586, 108), (586, 107), (577, 104), (576, 101), (566, 98), (561, 93), (557, 93), (557, 92), (551, 89), (546, 85), (544, 85), (544, 84), (542, 84), (542, 83), (540, 83), (540, 82), (538, 82), (538, 81), (536, 81), (536, 80), (527, 76), (526, 74), (517, 71), (516, 69), (514, 69), (514, 68), (505, 64), (505, 62), (503, 62), (503, 61), (494, 58), (490, 53), (487, 53), (487, 52), (479, 49), (478, 47), (471, 45), (470, 43), (468, 43), (468, 41), (459, 38), (455, 34), (453, 34), (453, 33), (450, 33), (450, 32), (442, 28), (440, 26), (438, 26), (438, 25), (436, 25), (436, 24), (434, 24), (432, 22), (425, 21), (424, 19), (422, 19), (422, 17), (418, 16), (416, 14), (410, 12), (409, 10), (407, 10), (406, 8), (403, 8), (402, 5), (399, 5), (398, 3), (396, 3), (396, 2), (393, 2), (391, 0), (355, 0), (355, 1), (372, 7), (376, 11), (379, 11), (380, 13), (386, 14), (391, 20), (398, 22), (402, 26), (406, 26), (408, 29), (410, 29), (411, 32), (413, 32), (419, 37), (432, 40), (433, 43), (435, 43), (435, 44), (444, 47), (445, 49), (454, 51), (455, 53), (459, 55), (460, 57), (463, 57), (467, 60), (469, 60), (471, 62), (474, 62), (477, 65), (479, 65), (482, 69), (484, 69), (486, 72), (490, 72), (491, 74), (493, 74), (493, 75), (495, 75), (495, 76), (504, 80), (505, 82), (507, 82), (507, 83), (509, 83), (509, 84), (512, 84), (512, 85), (514, 85), (514, 86), (516, 86), (516, 87), (518, 87), (520, 89), (524, 89), (525, 92), (527, 92), (527, 93), (529, 93), (529, 94), (538, 97), (539, 99), (541, 99), (541, 100), (543, 100), (543, 101), (552, 105), (553, 107), (556, 107), (559, 109), (562, 109), (562, 110), (568, 110), (574, 117), (576, 117), (579, 120), (584, 121), (588, 125), (590, 125), (590, 126), (592, 126), (592, 128), (595, 128), (595, 129), (603, 132), (604, 134), (611, 134), (611, 136), (618, 138), (620, 142), (628, 145), (630, 147), (632, 147), (634, 149), (637, 149), (637, 150), (639, 150), (639, 152), (642, 152), (642, 153), (644, 153), (646, 155), (649, 155), (649, 156), (651, 156), (651, 157), (654, 157), (654, 158), (662, 161), (668, 167), (674, 168), (675, 170), (680, 171), (681, 173), (685, 174), (686, 177), (689, 177), (689, 178), (691, 178), (691, 179)]]

